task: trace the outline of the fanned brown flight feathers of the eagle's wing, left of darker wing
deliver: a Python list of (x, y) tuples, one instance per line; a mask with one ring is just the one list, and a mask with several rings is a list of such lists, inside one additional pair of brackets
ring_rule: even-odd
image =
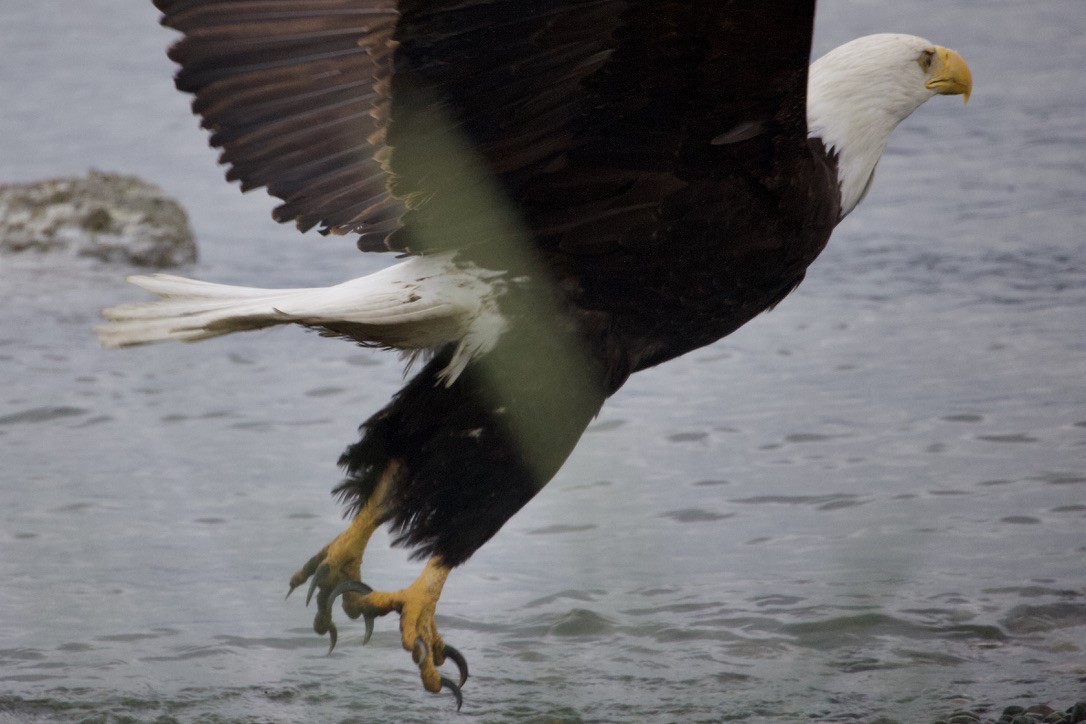
[[(185, 34), (177, 87), (223, 149), (227, 178), (283, 200), (303, 231), (387, 232), (399, 205), (374, 158), (395, 0), (155, 0)], [(375, 137), (374, 134), (378, 136)]]

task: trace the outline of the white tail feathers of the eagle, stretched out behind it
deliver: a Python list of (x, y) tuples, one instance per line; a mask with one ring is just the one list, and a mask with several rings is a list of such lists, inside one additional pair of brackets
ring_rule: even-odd
[[(496, 275), (416, 257), (368, 277), (313, 289), (254, 289), (171, 275), (129, 277), (157, 294), (154, 302), (102, 310), (94, 328), (104, 347), (177, 340), (195, 342), (230, 332), (299, 323), (348, 333), (366, 344), (407, 351), (460, 342), (446, 378), (487, 352), (505, 328), (497, 312)], [(346, 330), (344, 332), (344, 330)]]

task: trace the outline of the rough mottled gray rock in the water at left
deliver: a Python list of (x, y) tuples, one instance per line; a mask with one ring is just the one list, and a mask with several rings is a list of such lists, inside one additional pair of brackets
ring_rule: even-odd
[(135, 176), (0, 183), (0, 252), (63, 253), (143, 267), (197, 258), (185, 209)]

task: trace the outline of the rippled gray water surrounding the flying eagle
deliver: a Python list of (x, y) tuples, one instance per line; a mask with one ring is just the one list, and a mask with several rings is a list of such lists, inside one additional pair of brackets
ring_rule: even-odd
[[(439, 607), (464, 710), (395, 621), (283, 600), (392, 355), (274, 330), (102, 352), (121, 267), (0, 258), (0, 721), (871, 721), (1086, 694), (1086, 5), (826, 0), (959, 50), (972, 102), (898, 129), (809, 279), (636, 376)], [(332, 283), (388, 263), (222, 180), (150, 2), (0, 5), (0, 179), (138, 174), (184, 271)], [(418, 564), (377, 537), (365, 579)], [(342, 617), (340, 617), (342, 619)]]

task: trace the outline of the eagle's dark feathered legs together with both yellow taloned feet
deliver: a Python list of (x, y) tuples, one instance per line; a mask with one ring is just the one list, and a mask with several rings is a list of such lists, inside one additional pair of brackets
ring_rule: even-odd
[[(327, 632), (334, 645), (331, 607), (339, 596), (349, 617), (365, 620), (364, 643), (377, 617), (399, 613), (403, 647), (424, 686), (450, 689), (459, 704), (467, 664), (434, 623), (449, 571), (554, 475), (610, 391), (567, 373), (554, 347), (554, 335), (498, 345), (450, 383), (443, 370), (455, 348), (449, 345), (362, 424), (362, 439), (340, 459), (346, 478), (337, 488), (354, 519), (291, 579), (292, 588), (312, 579), (317, 633)], [(363, 550), (382, 523), (394, 545), (429, 557), (399, 590), (374, 590), (359, 580)], [(457, 664), (459, 684), (438, 671), (445, 659)]]

